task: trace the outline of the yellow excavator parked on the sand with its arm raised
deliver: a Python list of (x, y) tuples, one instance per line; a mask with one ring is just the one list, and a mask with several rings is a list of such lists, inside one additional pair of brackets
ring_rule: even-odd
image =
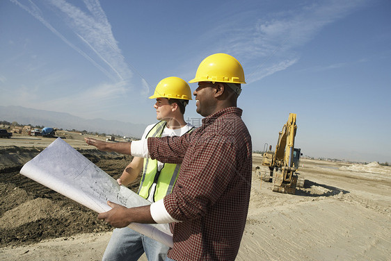
[(287, 123), (278, 136), (276, 151), (266, 151), (262, 165), (269, 167), (269, 172), (261, 174), (261, 179), (273, 182), (273, 192), (295, 194), (296, 186), (303, 187), (305, 179), (296, 173), (300, 161), (301, 149), (294, 148), (296, 136), (296, 114), (289, 113)]

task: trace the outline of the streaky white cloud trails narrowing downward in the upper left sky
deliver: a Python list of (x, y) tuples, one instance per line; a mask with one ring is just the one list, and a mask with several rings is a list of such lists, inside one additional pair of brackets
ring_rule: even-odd
[[(65, 44), (69, 45), (81, 54), (84, 58), (89, 60), (97, 69), (102, 71), (112, 81), (120, 83), (129, 80), (132, 77), (132, 72), (125, 62), (121, 50), (115, 41), (111, 25), (99, 4), (99, 1), (85, 0), (88, 12), (83, 12), (81, 8), (73, 6), (65, 0), (49, 0), (50, 6), (54, 10), (61, 13), (67, 26), (79, 37), (83, 42), (86, 51), (82, 47), (77, 47), (77, 43), (68, 40), (62, 33), (60, 33), (50, 22), (45, 19), (45, 15), (38, 6), (29, 1), (28, 5), (20, 3), (17, 0), (10, 0), (16, 3), (19, 7), (29, 12), (35, 19), (38, 19), (56, 36), (60, 37)], [(95, 53), (97, 58), (89, 55), (87, 52)]]

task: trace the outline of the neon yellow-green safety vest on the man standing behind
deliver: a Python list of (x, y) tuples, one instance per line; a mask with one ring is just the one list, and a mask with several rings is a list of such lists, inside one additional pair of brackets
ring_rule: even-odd
[[(159, 121), (147, 133), (145, 138), (161, 137), (161, 133), (163, 133), (164, 128), (166, 128), (166, 124), (166, 121)], [(191, 128), (188, 132), (191, 132), (193, 128)], [(154, 201), (156, 202), (160, 199), (163, 199), (164, 196), (170, 194), (173, 191), (173, 187), (179, 174), (179, 169), (180, 164), (164, 163), (163, 168), (160, 171), (157, 171), (157, 160), (145, 158), (143, 176), (141, 177), (138, 194), (144, 199), (148, 199), (150, 196), (150, 189), (152, 185), (156, 183), (154, 190)]]

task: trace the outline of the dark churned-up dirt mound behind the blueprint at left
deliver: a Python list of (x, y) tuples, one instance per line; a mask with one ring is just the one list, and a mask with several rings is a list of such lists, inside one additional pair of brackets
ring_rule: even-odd
[[(24, 163), (40, 151), (17, 146), (0, 149), (0, 247), (112, 230), (92, 210), (19, 174)], [(113, 178), (118, 178), (131, 161), (130, 156), (117, 153), (79, 151)], [(129, 188), (136, 191), (138, 182)]]

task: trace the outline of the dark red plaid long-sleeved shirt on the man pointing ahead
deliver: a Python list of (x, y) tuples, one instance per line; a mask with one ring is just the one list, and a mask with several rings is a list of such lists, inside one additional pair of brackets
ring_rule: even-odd
[(236, 107), (202, 119), (182, 137), (149, 138), (151, 158), (182, 163), (164, 206), (171, 224), (173, 260), (234, 260), (239, 251), (251, 187), (251, 137)]

